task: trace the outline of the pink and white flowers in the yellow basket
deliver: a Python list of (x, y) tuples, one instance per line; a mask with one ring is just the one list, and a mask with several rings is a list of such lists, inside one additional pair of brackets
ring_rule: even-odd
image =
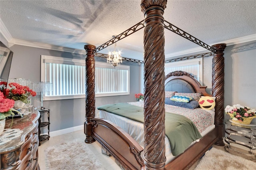
[(241, 105), (227, 105), (225, 108), (225, 113), (230, 115), (233, 121), (243, 122), (244, 118), (253, 117), (256, 113), (255, 109), (250, 109), (250, 107), (244, 107)]

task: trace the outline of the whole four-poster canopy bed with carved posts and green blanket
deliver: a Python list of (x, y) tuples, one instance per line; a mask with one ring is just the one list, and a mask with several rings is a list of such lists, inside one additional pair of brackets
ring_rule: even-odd
[[(213, 144), (224, 146), (222, 139), (224, 118), (223, 51), (226, 44), (216, 44), (210, 47), (165, 21), (163, 14), (166, 3), (167, 0), (142, 0), (141, 8), (145, 16), (143, 24), (142, 22), (136, 24), (100, 47), (84, 46), (86, 50), (85, 142), (91, 143), (97, 140), (102, 148), (108, 154), (111, 154), (124, 169), (188, 169)], [(142, 28), (144, 28), (144, 102), (120, 103), (116, 104), (117, 108), (112, 108), (112, 110), (99, 108), (101, 116), (105, 119), (95, 118), (94, 55), (101, 49)], [(169, 92), (173, 93), (172, 95), (177, 92), (182, 95), (184, 95), (184, 92), (200, 94), (200, 97), (211, 95), (206, 93), (206, 87), (201, 86), (189, 73), (174, 71), (166, 76), (164, 75), (164, 28), (214, 53), (212, 59), (212, 96), (215, 97), (216, 103), (214, 111), (210, 113), (200, 108), (190, 109), (193, 111), (200, 110), (199, 113), (192, 114), (198, 114), (195, 117), (201, 117), (201, 120), (188, 119), (191, 118), (191, 113), (189, 113), (190, 115), (185, 114), (188, 111), (187, 108), (181, 110), (182, 107), (168, 105), (170, 96), (166, 96), (166, 94)], [(184, 87), (182, 88), (184, 90), (180, 91), (176, 87)], [(169, 107), (172, 107), (172, 110), (169, 110)], [(126, 108), (126, 110), (121, 111), (120, 108)], [(117, 110), (119, 113), (115, 113)], [(124, 115), (121, 116), (123, 113)], [(114, 115), (114, 118), (109, 117), (110, 115)], [(134, 120), (137, 115), (141, 116)], [(204, 115), (208, 115), (208, 117), (203, 117)], [(170, 117), (170, 122), (168, 117)], [(176, 121), (176, 119), (180, 121)], [(190, 126), (187, 129), (194, 129), (193, 132), (183, 134), (183, 132), (186, 133), (186, 129), (183, 129), (183, 132), (182, 130), (169, 132), (170, 126), (180, 125), (181, 122), (185, 122), (184, 119), (186, 119), (185, 124)], [(202, 119), (209, 122), (209, 125), (200, 127), (198, 122)], [(118, 122), (120, 120), (121, 123)], [(132, 132), (124, 130), (125, 127), (121, 128), (127, 122), (131, 122), (131, 125), (129, 125), (130, 123), (126, 125), (131, 126), (130, 130)], [(134, 122), (138, 124), (138, 129), (136, 125), (132, 124)], [(138, 131), (142, 131), (142, 134), (138, 134)], [(189, 135), (193, 133), (194, 136)], [(178, 141), (173, 141), (176, 138)], [(186, 145), (181, 146), (179, 143), (182, 142), (180, 141), (185, 140), (187, 140)], [(168, 144), (170, 144), (170, 150), (166, 147)]]

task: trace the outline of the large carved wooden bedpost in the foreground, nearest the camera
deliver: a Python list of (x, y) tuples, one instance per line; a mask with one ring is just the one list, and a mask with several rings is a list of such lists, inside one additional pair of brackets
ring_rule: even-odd
[(144, 12), (144, 164), (165, 166), (164, 9), (167, 0), (142, 0)]

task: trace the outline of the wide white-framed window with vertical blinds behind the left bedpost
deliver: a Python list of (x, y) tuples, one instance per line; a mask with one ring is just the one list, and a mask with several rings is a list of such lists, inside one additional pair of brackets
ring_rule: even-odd
[[(130, 67), (95, 62), (95, 97), (129, 95)], [(85, 97), (85, 60), (41, 55), (41, 80), (53, 83), (44, 100)]]

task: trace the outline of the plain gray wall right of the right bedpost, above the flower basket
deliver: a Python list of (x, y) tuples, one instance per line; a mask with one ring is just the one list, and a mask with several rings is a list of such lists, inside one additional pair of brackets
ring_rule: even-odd
[(256, 41), (230, 45), (224, 53), (224, 105), (256, 109)]

